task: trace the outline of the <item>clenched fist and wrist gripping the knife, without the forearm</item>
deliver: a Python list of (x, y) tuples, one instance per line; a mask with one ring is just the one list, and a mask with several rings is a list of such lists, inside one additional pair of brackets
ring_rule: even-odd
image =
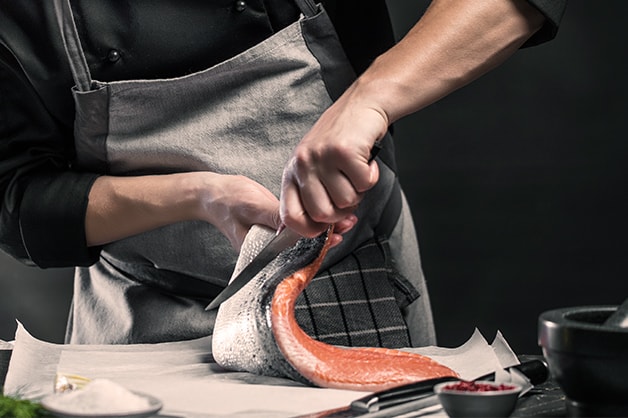
[(388, 129), (386, 115), (351, 89), (327, 109), (295, 147), (283, 173), (282, 222), (313, 237), (335, 224), (335, 243), (350, 230), (364, 193), (379, 178), (369, 162), (375, 141)]

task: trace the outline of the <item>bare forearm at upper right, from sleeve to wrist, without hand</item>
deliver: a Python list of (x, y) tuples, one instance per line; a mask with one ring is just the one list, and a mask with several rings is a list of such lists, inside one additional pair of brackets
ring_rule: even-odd
[(347, 94), (391, 124), (502, 63), (543, 21), (525, 0), (435, 0)]

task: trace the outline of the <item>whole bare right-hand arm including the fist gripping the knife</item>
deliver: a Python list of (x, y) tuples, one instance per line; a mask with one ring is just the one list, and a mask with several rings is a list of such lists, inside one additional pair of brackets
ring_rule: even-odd
[(344, 218), (378, 179), (369, 152), (390, 124), (495, 67), (543, 22), (525, 0), (434, 0), (295, 148), (284, 170), (282, 221), (313, 236)]

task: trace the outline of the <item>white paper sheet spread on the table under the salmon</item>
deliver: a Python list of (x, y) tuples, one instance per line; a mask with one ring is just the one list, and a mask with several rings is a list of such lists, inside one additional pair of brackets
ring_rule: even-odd
[[(428, 355), (465, 379), (517, 364), (501, 334), (489, 345), (477, 330), (457, 348), (408, 351)], [(212, 362), (211, 337), (160, 344), (60, 345), (36, 339), (18, 324), (5, 394), (40, 399), (53, 392), (57, 372), (107, 378), (156, 396), (164, 404), (164, 417), (292, 417), (346, 406), (365, 395), (223, 370)]]

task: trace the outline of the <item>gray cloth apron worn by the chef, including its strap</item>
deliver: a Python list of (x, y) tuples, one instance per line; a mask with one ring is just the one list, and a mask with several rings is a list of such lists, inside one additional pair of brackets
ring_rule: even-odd
[[(55, 0), (76, 83), (76, 167), (114, 176), (240, 174), (279, 196), (294, 146), (355, 78), (322, 7), (295, 2), (302, 12), (297, 22), (211, 68), (176, 78), (100, 82), (91, 77), (69, 0)], [(407, 233), (413, 233), (412, 221), (394, 170), (382, 161), (394, 161), (393, 153), (387, 136), (380, 181), (358, 209), (360, 222), (330, 252), (320, 286), (299, 301), (300, 323), (321, 340), (433, 343), (418, 248)], [(414, 250), (410, 265), (393, 259), (391, 247)], [(209, 335), (214, 314), (204, 307), (227, 284), (236, 259), (228, 240), (200, 221), (108, 244), (97, 263), (76, 270), (66, 340), (139, 343)]]

